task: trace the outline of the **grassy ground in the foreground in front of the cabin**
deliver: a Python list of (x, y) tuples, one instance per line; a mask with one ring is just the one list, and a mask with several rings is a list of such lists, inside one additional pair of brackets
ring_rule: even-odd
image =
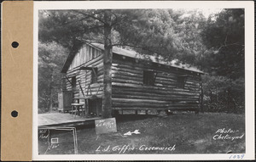
[[(146, 115), (122, 115), (117, 118), (117, 133), (96, 135), (95, 128), (80, 127), (79, 154), (233, 154), (245, 153), (245, 136), (241, 139), (214, 140), (218, 129), (235, 131), (227, 133), (238, 137), (245, 133), (244, 115), (205, 113), (174, 114), (166, 118)], [(127, 131), (139, 130), (141, 134), (124, 136)], [(59, 144), (46, 154), (73, 154), (71, 132), (52, 133)], [(225, 136), (222, 133), (222, 136)], [(45, 139), (39, 140), (39, 154), (47, 148)], [(175, 145), (175, 146), (174, 146)], [(174, 147), (173, 147), (174, 146)], [(170, 150), (145, 150), (145, 148), (175, 148)], [(123, 148), (123, 149), (122, 149)], [(126, 148), (126, 149), (125, 149)], [(140, 150), (143, 149), (143, 150)]]

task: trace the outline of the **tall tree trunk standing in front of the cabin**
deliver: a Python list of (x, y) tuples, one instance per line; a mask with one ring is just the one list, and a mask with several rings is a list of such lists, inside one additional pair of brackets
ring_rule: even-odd
[(103, 57), (103, 98), (102, 118), (112, 117), (112, 42), (111, 42), (111, 13), (105, 10), (104, 13), (104, 57)]

